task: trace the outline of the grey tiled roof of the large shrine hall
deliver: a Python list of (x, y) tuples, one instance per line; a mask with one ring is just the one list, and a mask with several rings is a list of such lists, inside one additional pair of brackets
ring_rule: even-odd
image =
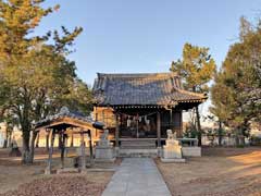
[(162, 105), (202, 102), (207, 97), (183, 89), (175, 73), (98, 73), (94, 94), (98, 106)]

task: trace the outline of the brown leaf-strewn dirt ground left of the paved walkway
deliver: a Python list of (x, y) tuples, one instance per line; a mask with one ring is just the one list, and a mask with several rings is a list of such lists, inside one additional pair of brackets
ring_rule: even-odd
[[(113, 174), (102, 169), (112, 169), (121, 162), (98, 163), (95, 169), (99, 171), (85, 174), (45, 175), (46, 157), (38, 150), (33, 166), (22, 166), (20, 158), (9, 158), (8, 150), (0, 149), (0, 196), (100, 196)], [(54, 157), (55, 168), (59, 155)]]

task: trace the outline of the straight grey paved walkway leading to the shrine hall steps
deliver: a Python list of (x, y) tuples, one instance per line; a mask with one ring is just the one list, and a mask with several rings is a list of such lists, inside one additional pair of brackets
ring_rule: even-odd
[(102, 196), (171, 196), (154, 161), (124, 158)]

